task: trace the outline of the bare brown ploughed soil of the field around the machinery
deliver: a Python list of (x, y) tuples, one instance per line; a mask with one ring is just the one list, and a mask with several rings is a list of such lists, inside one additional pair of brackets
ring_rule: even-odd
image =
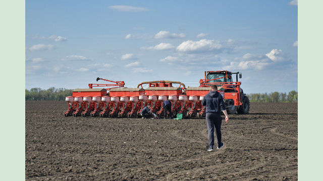
[(297, 103), (250, 103), (208, 148), (205, 119), (64, 117), (26, 102), (26, 180), (297, 180)]

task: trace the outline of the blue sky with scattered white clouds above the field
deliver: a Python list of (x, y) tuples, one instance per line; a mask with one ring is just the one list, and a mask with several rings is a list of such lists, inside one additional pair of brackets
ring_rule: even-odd
[(96, 77), (187, 87), (229, 70), (246, 94), (298, 91), (297, 9), (297, 0), (28, 0), (25, 88), (108, 83)]

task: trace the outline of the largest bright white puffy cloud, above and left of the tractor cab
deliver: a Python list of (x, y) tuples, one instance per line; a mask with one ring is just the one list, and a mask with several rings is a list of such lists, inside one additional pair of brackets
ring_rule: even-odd
[(202, 39), (200, 41), (184, 41), (176, 48), (176, 50), (181, 52), (190, 52), (219, 50), (221, 48), (222, 45), (219, 41)]

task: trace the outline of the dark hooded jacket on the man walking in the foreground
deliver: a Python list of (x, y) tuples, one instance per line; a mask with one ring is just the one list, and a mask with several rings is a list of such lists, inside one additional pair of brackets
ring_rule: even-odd
[(210, 91), (205, 95), (202, 105), (206, 106), (206, 113), (221, 113), (226, 110), (223, 97), (218, 91)]

